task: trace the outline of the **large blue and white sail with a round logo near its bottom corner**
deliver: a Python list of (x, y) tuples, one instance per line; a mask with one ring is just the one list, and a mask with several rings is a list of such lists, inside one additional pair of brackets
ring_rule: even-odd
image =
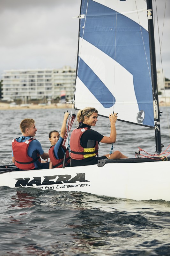
[(82, 0), (75, 107), (154, 126), (145, 0)]

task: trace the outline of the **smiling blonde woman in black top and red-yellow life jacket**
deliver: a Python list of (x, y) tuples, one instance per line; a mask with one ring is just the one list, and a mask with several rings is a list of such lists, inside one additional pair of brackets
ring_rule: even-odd
[[(102, 143), (115, 143), (116, 141), (116, 127), (117, 114), (109, 115), (111, 132), (110, 136), (103, 136), (99, 132), (93, 131), (91, 126), (96, 126), (98, 111), (95, 108), (84, 108), (79, 110), (77, 120), (79, 127), (71, 133), (70, 138), (70, 156), (71, 166), (82, 166), (97, 164), (99, 159), (106, 159), (109, 154), (98, 156), (98, 142)], [(115, 158), (128, 158), (120, 151), (115, 151), (109, 159)]]

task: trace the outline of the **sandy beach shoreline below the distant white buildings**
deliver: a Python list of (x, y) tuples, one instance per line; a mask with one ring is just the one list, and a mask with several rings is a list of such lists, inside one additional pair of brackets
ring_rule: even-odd
[[(68, 107), (69, 106), (69, 107)], [(159, 107), (170, 107), (170, 102), (159, 102)], [(52, 103), (51, 105), (39, 105), (39, 104), (28, 104), (26, 106), (14, 105), (11, 106), (10, 103), (0, 102), (0, 110), (14, 110), (14, 109), (52, 109), (52, 108), (72, 108), (72, 104), (68, 103)]]

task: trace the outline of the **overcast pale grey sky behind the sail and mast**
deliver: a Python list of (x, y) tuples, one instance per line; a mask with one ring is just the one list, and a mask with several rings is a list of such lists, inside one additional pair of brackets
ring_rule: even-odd
[[(170, 79), (170, 0), (157, 0), (163, 70)], [(81, 0), (0, 0), (0, 75), (6, 69), (76, 68)], [(156, 44), (156, 52), (159, 44)], [(157, 63), (159, 55), (157, 53)], [(157, 64), (157, 69), (159, 64)]]

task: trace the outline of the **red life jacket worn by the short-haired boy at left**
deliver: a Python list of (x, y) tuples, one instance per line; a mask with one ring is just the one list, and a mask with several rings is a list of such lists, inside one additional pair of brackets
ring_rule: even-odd
[(12, 151), (15, 158), (15, 165), (22, 170), (32, 170), (35, 168), (34, 162), (37, 160), (41, 162), (40, 155), (37, 154), (37, 157), (33, 159), (28, 156), (28, 146), (29, 143), (35, 138), (31, 138), (24, 142), (18, 142), (16, 139), (12, 140)]

